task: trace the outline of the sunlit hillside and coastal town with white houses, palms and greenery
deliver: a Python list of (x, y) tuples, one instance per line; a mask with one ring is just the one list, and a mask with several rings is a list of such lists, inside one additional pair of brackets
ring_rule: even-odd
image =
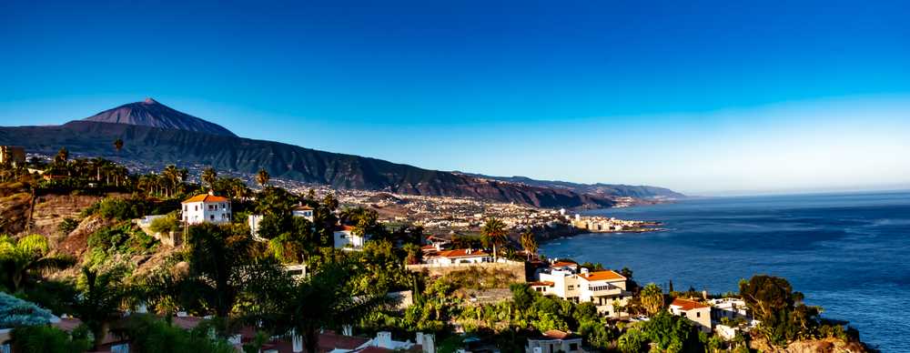
[(0, 352), (872, 351), (783, 277), (677, 291), (537, 254), (654, 221), (25, 152), (0, 147)]

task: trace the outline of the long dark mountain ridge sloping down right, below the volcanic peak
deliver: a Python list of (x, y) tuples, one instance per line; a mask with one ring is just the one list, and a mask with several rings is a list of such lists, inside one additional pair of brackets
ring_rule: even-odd
[[(128, 106), (128, 105), (127, 105)], [(479, 197), (535, 207), (602, 208), (610, 197), (566, 189), (534, 187), (460, 173), (422, 169), (388, 161), (317, 151), (272, 141), (96, 121), (63, 126), (0, 127), (6, 146), (26, 153), (56, 155), (66, 147), (72, 156), (113, 158), (114, 139), (124, 146), (120, 159), (161, 170), (169, 164), (213, 166), (218, 171), (253, 174), (265, 169), (272, 177), (332, 187), (385, 190), (404, 195)]]

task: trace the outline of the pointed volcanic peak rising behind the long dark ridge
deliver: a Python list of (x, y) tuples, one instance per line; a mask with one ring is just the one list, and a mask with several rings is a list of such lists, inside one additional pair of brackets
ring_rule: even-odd
[(82, 121), (177, 128), (206, 134), (237, 136), (230, 132), (230, 130), (227, 130), (227, 128), (214, 123), (209, 123), (196, 116), (178, 112), (177, 110), (156, 102), (152, 98), (148, 98), (142, 102), (117, 106), (114, 109), (103, 111), (95, 116), (86, 117)]

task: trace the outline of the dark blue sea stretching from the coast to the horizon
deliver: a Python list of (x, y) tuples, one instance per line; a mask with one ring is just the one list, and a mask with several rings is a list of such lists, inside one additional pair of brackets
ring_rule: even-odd
[(629, 267), (640, 285), (738, 291), (740, 278), (785, 277), (885, 352), (910, 351), (910, 192), (724, 197), (581, 212), (656, 220), (662, 232), (551, 241), (547, 257)]

